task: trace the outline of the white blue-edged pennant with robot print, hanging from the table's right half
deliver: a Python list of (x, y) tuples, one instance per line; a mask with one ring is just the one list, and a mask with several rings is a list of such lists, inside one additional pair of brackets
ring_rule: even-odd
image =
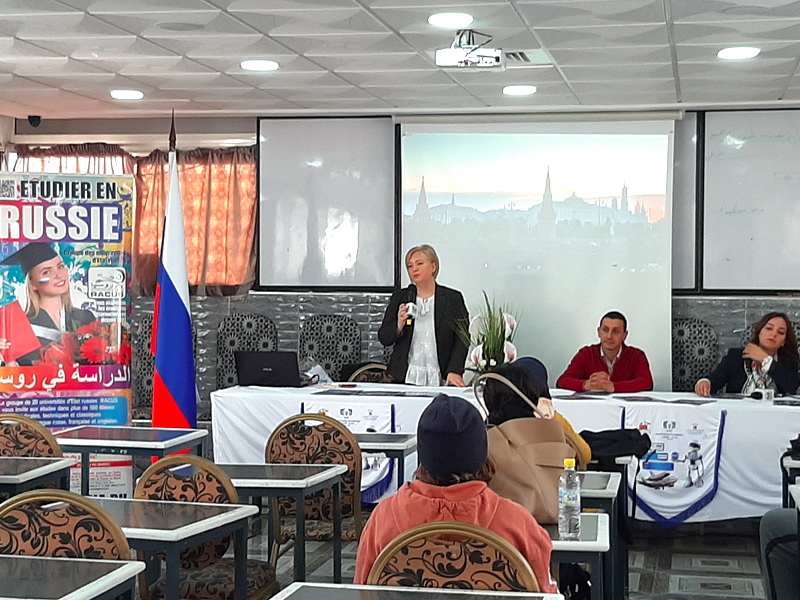
[(680, 525), (714, 499), (726, 412), (693, 406), (626, 407), (623, 427), (650, 436), (650, 452), (628, 467), (636, 508), (667, 527)]

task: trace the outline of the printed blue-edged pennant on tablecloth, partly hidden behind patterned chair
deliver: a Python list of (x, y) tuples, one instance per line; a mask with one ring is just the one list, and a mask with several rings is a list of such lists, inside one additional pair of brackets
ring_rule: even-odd
[[(341, 421), (353, 433), (394, 433), (394, 404), (365, 405), (343, 402), (335, 398), (320, 402), (304, 402), (303, 413), (323, 413)], [(377, 502), (392, 484), (393, 462), (387, 458), (362, 455), (361, 501)], [(401, 483), (402, 485), (402, 483)]]

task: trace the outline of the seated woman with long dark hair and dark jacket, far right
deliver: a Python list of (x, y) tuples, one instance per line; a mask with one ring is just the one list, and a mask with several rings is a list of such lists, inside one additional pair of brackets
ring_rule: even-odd
[(750, 343), (732, 348), (707, 378), (694, 386), (700, 396), (722, 388), (731, 394), (750, 395), (773, 389), (776, 394), (794, 394), (800, 386), (797, 367), (797, 337), (784, 313), (771, 312), (753, 326)]

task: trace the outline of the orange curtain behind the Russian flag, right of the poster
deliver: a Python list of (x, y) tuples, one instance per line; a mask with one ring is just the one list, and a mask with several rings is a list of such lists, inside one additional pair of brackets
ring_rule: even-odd
[[(161, 150), (136, 164), (133, 291), (155, 294), (169, 184)], [(244, 294), (255, 280), (256, 146), (178, 152), (192, 295)]]

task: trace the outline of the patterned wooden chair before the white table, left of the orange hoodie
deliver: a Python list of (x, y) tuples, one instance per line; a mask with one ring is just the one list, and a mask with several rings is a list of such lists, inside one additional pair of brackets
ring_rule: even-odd
[[(268, 463), (343, 464), (347, 473), (342, 476), (342, 539), (355, 541), (361, 537), (361, 449), (355, 436), (336, 419), (321, 414), (294, 415), (275, 428), (267, 441), (265, 458)], [(273, 503), (273, 515), (287, 517), (295, 514), (295, 501)], [(305, 502), (306, 539), (333, 538), (333, 497), (331, 490), (322, 490)], [(295, 525), (278, 526), (275, 540), (278, 545), (295, 536)]]

